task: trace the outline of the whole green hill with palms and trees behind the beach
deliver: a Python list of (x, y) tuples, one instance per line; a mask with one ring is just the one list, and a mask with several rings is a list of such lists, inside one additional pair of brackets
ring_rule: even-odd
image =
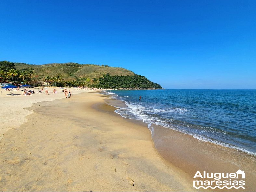
[(0, 61), (1, 83), (49, 86), (81, 86), (104, 89), (161, 89), (159, 84), (130, 70), (107, 65), (51, 63), (29, 65)]

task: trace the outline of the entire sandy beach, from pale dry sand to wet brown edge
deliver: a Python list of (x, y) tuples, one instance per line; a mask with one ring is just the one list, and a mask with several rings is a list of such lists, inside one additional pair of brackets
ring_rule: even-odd
[(154, 127), (155, 150), (146, 123), (106, 104), (118, 101), (72, 95), (1, 97), (1, 191), (195, 191), (197, 169), (240, 166), (246, 191), (255, 191), (254, 157), (162, 127)]

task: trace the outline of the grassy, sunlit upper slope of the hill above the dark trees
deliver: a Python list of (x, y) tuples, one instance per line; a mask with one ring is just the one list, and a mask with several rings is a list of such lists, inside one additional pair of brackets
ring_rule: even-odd
[(29, 65), (26, 63), (14, 63), (17, 70), (28, 68), (34, 69), (34, 75), (44, 80), (46, 76), (60, 76), (65, 81), (72, 81), (78, 78), (99, 78), (106, 73), (110, 75), (134, 75), (132, 71), (121, 67), (106, 67), (91, 64), (78, 64), (78, 63), (50, 63), (45, 65)]

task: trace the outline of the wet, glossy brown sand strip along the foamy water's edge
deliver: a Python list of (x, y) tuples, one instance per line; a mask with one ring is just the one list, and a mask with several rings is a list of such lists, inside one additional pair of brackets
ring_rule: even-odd
[[(116, 101), (107, 102), (109, 105), (118, 109), (122, 105), (125, 105), (124, 101), (112, 98), (111, 95), (109, 96)], [(117, 114), (120, 115), (119, 113)], [(130, 119), (126, 117), (122, 118)], [(143, 122), (143, 120), (137, 121)], [(193, 135), (160, 125), (145, 124), (147, 124), (148, 129), (151, 131), (152, 142), (159, 156), (167, 165), (178, 168), (184, 172), (185, 175), (188, 174), (189, 176), (186, 175), (186, 178), (191, 183), (193, 183), (193, 176), (197, 171), (206, 171), (208, 173), (235, 173), (237, 170), (242, 169), (247, 174), (247, 185), (246, 189), (243, 191), (256, 190), (256, 187), (253, 185), (254, 178), (256, 178), (256, 157), (254, 154), (239, 148), (231, 148), (214, 142), (200, 140)], [(212, 157), (212, 155), (214, 155), (214, 157)], [(188, 166), (190, 169), (187, 169)], [(241, 189), (225, 190), (242, 191)], [(215, 191), (221, 190), (215, 189)]]

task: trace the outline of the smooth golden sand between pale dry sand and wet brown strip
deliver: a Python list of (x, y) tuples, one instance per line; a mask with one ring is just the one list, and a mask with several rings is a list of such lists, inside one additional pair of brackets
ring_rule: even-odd
[(147, 125), (104, 99), (84, 93), (29, 107), (27, 121), (0, 141), (0, 190), (193, 190), (157, 155)]

